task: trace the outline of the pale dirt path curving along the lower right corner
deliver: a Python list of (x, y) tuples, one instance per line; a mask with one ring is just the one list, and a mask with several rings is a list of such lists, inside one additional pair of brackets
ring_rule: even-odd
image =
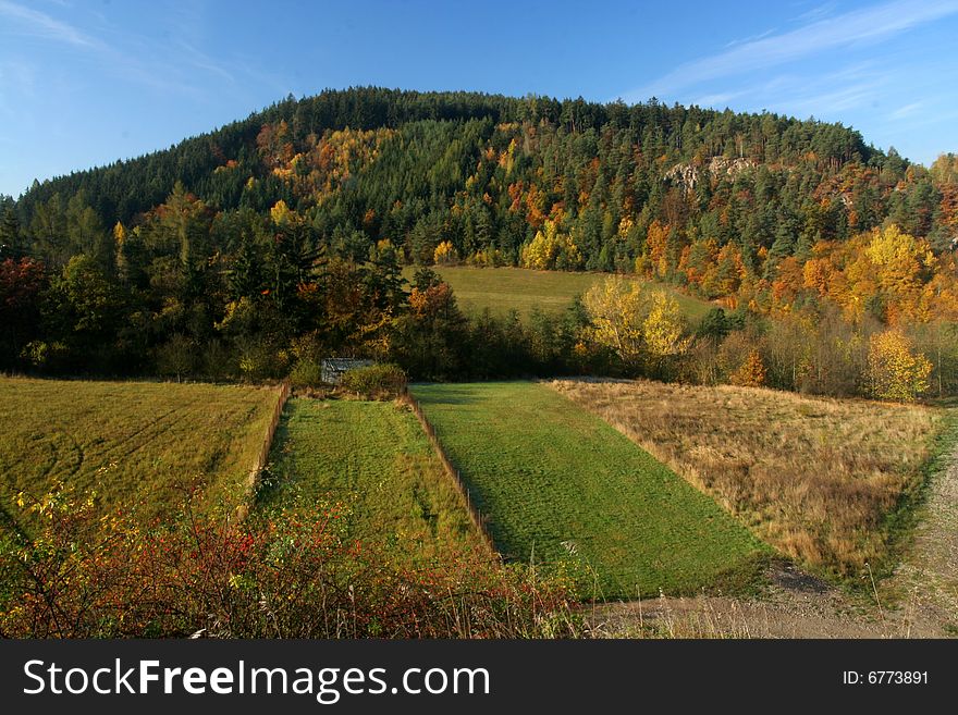
[[(599, 638), (955, 638), (958, 636), (958, 445), (932, 477), (913, 541), (877, 600), (852, 600), (777, 564), (761, 599), (698, 596), (604, 604)], [(889, 605), (889, 604), (894, 604)]]

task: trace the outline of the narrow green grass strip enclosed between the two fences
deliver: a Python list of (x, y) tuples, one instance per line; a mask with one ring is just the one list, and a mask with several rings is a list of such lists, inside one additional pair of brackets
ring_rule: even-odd
[(393, 403), (294, 398), (259, 507), (315, 501), (351, 511), (351, 534), (413, 562), (489, 551), (416, 417)]

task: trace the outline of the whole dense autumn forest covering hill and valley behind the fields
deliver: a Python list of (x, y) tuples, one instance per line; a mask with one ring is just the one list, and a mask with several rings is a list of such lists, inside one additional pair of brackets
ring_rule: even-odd
[[(926, 169), (839, 124), (330, 90), (0, 198), (0, 369), (308, 380), (364, 355), (429, 379), (958, 390), (958, 157)], [(688, 325), (610, 283), (561, 318), (464, 316), (428, 269), (451, 262), (637, 274), (715, 309)]]

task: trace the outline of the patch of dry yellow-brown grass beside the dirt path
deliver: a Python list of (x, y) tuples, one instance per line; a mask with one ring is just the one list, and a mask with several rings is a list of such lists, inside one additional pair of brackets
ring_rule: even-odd
[(889, 515), (921, 485), (942, 414), (756, 387), (561, 380), (760, 538), (839, 577), (888, 565)]

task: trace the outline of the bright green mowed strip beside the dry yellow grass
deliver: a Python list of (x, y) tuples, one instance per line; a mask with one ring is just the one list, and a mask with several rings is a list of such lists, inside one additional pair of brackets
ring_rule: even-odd
[[(575, 560), (584, 595), (750, 583), (765, 547), (714, 501), (601, 419), (529, 382), (413, 392), (504, 555)], [(594, 588), (598, 587), (598, 592)]]

